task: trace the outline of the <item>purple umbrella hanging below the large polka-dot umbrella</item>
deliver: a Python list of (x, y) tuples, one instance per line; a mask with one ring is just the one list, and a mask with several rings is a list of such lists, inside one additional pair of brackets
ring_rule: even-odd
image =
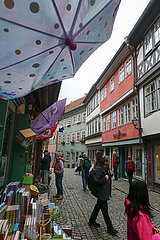
[(31, 129), (36, 133), (36, 138), (42, 139), (51, 133), (50, 129), (56, 129), (56, 123), (65, 112), (65, 104), (66, 98), (53, 103), (31, 122)]

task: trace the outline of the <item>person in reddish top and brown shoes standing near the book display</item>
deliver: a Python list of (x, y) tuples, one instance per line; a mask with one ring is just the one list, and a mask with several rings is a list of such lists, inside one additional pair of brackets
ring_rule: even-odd
[(55, 165), (54, 165), (54, 173), (55, 173), (55, 182), (57, 188), (57, 194), (54, 196), (58, 200), (63, 199), (63, 173), (64, 173), (64, 158), (60, 152), (55, 154)]

